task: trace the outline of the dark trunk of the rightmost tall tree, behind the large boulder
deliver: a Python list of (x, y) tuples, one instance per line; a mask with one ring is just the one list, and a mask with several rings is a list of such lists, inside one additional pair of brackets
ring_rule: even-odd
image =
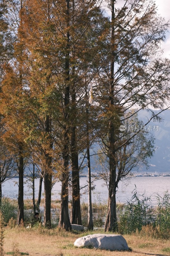
[[(114, 65), (115, 65), (115, 0), (111, 0), (112, 11), (112, 29), (111, 29), (111, 65), (110, 65), (110, 90), (109, 100), (110, 108), (114, 106)], [(108, 208), (107, 217), (105, 221), (105, 231), (117, 230), (117, 218), (116, 218), (116, 161), (115, 161), (115, 127), (113, 118), (109, 120), (109, 196), (108, 196)]]

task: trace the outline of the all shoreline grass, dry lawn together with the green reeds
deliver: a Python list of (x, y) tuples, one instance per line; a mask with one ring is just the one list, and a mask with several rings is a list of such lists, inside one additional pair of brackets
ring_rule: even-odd
[[(101, 218), (106, 214), (106, 204), (93, 204), (93, 213), (96, 213), (94, 226), (99, 227), (97, 231), (66, 232), (55, 227), (46, 229), (42, 225), (26, 229), (25, 227), (16, 227), (16, 221), (11, 218), (5, 228), (5, 239), (2, 236), (4, 251), (14, 256), (170, 256), (170, 240), (168, 239), (170, 237), (170, 195), (166, 192), (163, 197), (158, 198), (159, 204), (157, 208), (152, 208), (148, 200), (150, 199), (144, 195), (139, 197), (137, 191), (135, 191), (132, 200), (128, 204), (118, 205), (119, 232), (124, 234), (123, 237), (132, 249), (131, 251), (110, 252), (93, 248), (74, 247), (75, 240), (81, 236), (104, 233), (101, 228), (103, 224), (103, 219)], [(43, 205), (43, 201), (41, 201), (41, 205)], [(12, 207), (16, 203), (9, 202)], [(9, 204), (9, 202), (7, 203)], [(59, 207), (60, 202), (53, 200), (52, 208), (59, 209)], [(25, 200), (25, 209), (31, 208), (31, 200)], [(87, 209), (88, 205), (83, 203), (81, 205), (81, 214), (85, 226), (87, 224)], [(28, 213), (31, 216), (30, 212)], [(17, 247), (14, 246), (13, 251), (11, 250), (12, 244), (17, 244)], [(21, 252), (25, 254), (21, 254)]]

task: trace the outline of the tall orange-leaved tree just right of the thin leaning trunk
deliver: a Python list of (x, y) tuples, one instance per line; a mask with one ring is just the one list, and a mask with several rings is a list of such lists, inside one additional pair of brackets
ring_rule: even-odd
[[(44, 223), (48, 227), (51, 226), (53, 174), (52, 108), (56, 102), (53, 99), (57, 98), (56, 86), (52, 79), (53, 62), (50, 62), (52, 54), (50, 37), (53, 37), (52, 33), (54, 33), (51, 8), (52, 1), (26, 1), (22, 30), (27, 81), (24, 95), (25, 140), (31, 148), (33, 162), (42, 170), (45, 195)], [(42, 178), (40, 179), (40, 193), (41, 186)], [(40, 204), (40, 193), (38, 204)]]

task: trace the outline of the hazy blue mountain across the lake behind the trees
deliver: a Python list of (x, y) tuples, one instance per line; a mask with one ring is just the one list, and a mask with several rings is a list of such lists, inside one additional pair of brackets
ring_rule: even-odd
[[(155, 113), (159, 113), (159, 110), (155, 110)], [(155, 137), (155, 153), (153, 157), (149, 160), (150, 167), (146, 170), (146, 167), (140, 168), (140, 172), (169, 172), (170, 173), (170, 110), (163, 111), (160, 115), (162, 118), (161, 122), (153, 122), (151, 121), (149, 124), (146, 125), (146, 129), (150, 127), (151, 133)], [(148, 122), (148, 119), (151, 117), (151, 112), (147, 112), (146, 110), (140, 110), (138, 113), (139, 120), (143, 121), (144, 124)], [(135, 125), (135, 124), (134, 124)], [(91, 154), (91, 171), (93, 173), (98, 172), (95, 153), (97, 153), (100, 146), (96, 143), (93, 144), (92, 148), (90, 149)], [(79, 156), (79, 157), (82, 157)], [(81, 160), (79, 159), (79, 164)], [(82, 171), (83, 174), (88, 173), (87, 169), (87, 159), (84, 160), (85, 168)], [(31, 165), (32, 168), (32, 165)], [(100, 170), (101, 171), (101, 170)], [(133, 169), (133, 172), (137, 171), (137, 169)], [(28, 168), (25, 170), (26, 174), (30, 174)]]

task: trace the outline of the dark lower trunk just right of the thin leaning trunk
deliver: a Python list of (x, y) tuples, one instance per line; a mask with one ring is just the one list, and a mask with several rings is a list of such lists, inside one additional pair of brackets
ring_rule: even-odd
[[(46, 116), (45, 129), (48, 133), (49, 148), (52, 148), (51, 141), (51, 121), (49, 116)], [(48, 151), (45, 149), (45, 151)], [(45, 153), (45, 169), (44, 169), (44, 224), (46, 227), (51, 227), (51, 188), (52, 188), (52, 158), (49, 153)]]

